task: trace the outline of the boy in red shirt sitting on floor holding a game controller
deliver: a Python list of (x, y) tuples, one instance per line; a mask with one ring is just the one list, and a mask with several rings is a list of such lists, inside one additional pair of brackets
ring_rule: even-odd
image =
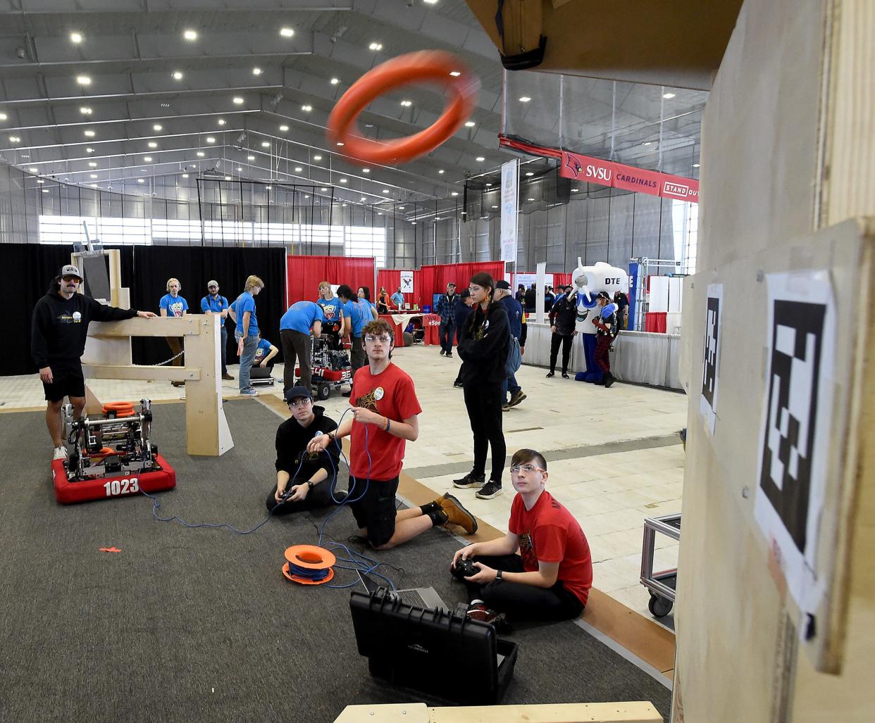
[[(583, 612), (592, 587), (590, 546), (577, 520), (544, 489), (547, 462), (520, 449), (510, 462), (517, 494), (507, 535), (463, 547), (477, 574), (464, 579), (474, 620), (568, 620)], [(516, 554), (519, 551), (519, 554)]]

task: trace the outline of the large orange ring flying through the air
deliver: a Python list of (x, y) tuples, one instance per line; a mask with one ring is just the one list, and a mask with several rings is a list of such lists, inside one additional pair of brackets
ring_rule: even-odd
[[(451, 76), (451, 72), (461, 72)], [(378, 143), (353, 132), (361, 111), (381, 94), (417, 80), (444, 86), (454, 97), (429, 128), (395, 141)], [(405, 163), (444, 143), (471, 115), (479, 81), (449, 52), (425, 50), (387, 60), (356, 80), (328, 116), (328, 140), (343, 143), (343, 152), (370, 163)]]

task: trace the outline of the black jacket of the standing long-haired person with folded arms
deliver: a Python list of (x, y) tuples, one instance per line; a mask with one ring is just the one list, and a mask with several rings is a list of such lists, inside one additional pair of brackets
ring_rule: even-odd
[(507, 343), (510, 330), (507, 311), (500, 303), (489, 306), (489, 316), (484, 316), (479, 304), (471, 319), (463, 328), (458, 342), (458, 356), (462, 368), (458, 372), (462, 384), (500, 384), (506, 379), (504, 364), (507, 361)]

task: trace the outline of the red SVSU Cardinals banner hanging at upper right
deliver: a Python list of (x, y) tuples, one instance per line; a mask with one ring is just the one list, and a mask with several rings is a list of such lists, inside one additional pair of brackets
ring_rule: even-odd
[(699, 202), (699, 182), (693, 178), (670, 176), (656, 170), (644, 170), (634, 166), (603, 161), (601, 158), (581, 156), (567, 150), (542, 148), (530, 143), (499, 136), (500, 144), (535, 156), (559, 160), (559, 175), (588, 184), (599, 184), (622, 188), (626, 191), (639, 191), (651, 196), (676, 198), (679, 201)]

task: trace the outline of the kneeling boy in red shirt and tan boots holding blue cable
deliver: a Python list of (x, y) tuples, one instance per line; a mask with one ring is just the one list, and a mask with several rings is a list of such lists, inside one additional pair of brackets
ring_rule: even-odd
[(452, 495), (421, 507), (395, 509), (404, 447), (419, 436), (418, 415), (423, 410), (413, 379), (389, 360), (394, 342), (395, 330), (385, 319), (365, 324), (361, 343), (367, 365), (353, 377), (349, 398), (353, 416), (307, 446), (310, 452), (320, 452), (351, 435), (348, 497), (353, 502), (349, 506), (360, 534), (378, 550), (401, 545), (437, 525), (477, 532), (477, 520)]

